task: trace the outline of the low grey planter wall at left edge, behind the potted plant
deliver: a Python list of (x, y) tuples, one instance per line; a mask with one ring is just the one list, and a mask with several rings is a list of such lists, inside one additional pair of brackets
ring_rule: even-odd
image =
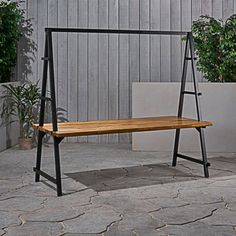
[[(0, 97), (3, 95), (5, 88), (2, 85), (18, 85), (19, 82), (1, 83), (0, 84)], [(0, 110), (2, 106), (2, 101), (0, 99)], [(9, 148), (18, 143), (17, 137), (19, 137), (19, 125), (17, 123), (12, 123), (10, 125), (2, 124), (0, 117), (0, 151)]]

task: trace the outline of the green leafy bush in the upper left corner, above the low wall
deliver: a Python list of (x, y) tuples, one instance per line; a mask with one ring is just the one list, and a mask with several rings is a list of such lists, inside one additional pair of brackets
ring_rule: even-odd
[(11, 0), (0, 2), (0, 83), (9, 82), (12, 70), (17, 61), (17, 46), (22, 60), (22, 74), (27, 76), (31, 71), (36, 44), (31, 40), (33, 32), (31, 20), (24, 19), (24, 10), (20, 8), (22, 1)]

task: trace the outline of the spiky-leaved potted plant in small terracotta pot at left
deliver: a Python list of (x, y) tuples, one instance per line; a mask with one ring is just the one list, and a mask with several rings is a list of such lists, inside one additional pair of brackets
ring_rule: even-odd
[(1, 118), (5, 123), (19, 122), (20, 149), (31, 149), (33, 145), (33, 131), (31, 128), (38, 113), (40, 89), (37, 84), (23, 83), (18, 86), (3, 85), (5, 90)]

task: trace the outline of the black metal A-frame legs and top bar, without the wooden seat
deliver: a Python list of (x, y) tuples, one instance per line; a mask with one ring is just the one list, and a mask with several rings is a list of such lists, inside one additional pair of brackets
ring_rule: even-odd
[[(194, 57), (194, 42), (193, 35), (191, 32), (179, 32), (179, 31), (154, 31), (154, 30), (116, 30), (116, 29), (77, 29), (77, 28), (45, 28), (46, 37), (45, 37), (45, 51), (43, 63), (43, 80), (42, 80), (42, 92), (41, 92), (41, 107), (40, 107), (40, 118), (39, 125), (44, 125), (44, 114), (45, 114), (45, 101), (46, 98), (46, 87), (48, 79), (48, 69), (49, 69), (49, 78), (50, 78), (50, 94), (51, 98), (51, 111), (52, 111), (52, 125), (53, 131), (58, 130), (57, 125), (57, 113), (56, 113), (56, 94), (55, 94), (55, 81), (54, 81), (54, 65), (53, 65), (53, 45), (52, 45), (52, 33), (53, 32), (65, 32), (65, 33), (107, 33), (107, 34), (148, 34), (148, 35), (185, 35), (186, 36), (186, 46), (184, 53), (184, 65), (181, 79), (181, 90), (179, 98), (179, 108), (178, 108), (178, 117), (182, 117), (183, 114), (183, 105), (184, 105), (184, 95), (190, 94), (195, 96), (196, 110), (197, 110), (197, 119), (198, 121), (202, 120), (200, 102), (198, 90), (198, 83), (195, 75), (195, 57)], [(194, 91), (186, 91), (186, 76), (187, 76), (187, 67), (188, 62), (191, 61), (192, 75), (193, 75), (193, 87)], [(203, 127), (205, 128), (205, 127)], [(173, 152), (173, 162), (172, 166), (176, 166), (177, 158), (186, 159), (192, 162), (203, 165), (205, 177), (209, 177), (208, 166), (210, 165), (207, 162), (207, 153), (205, 145), (205, 137), (203, 128), (197, 128), (197, 131), (200, 135), (200, 144), (202, 151), (202, 160), (195, 159), (190, 156), (186, 156), (178, 153), (179, 148), (179, 139), (180, 139), (180, 129), (176, 130), (175, 142), (174, 142), (174, 152)], [(33, 168), (35, 171), (35, 181), (40, 181), (40, 176), (48, 179), (57, 186), (57, 196), (62, 196), (62, 186), (61, 186), (61, 167), (60, 167), (60, 153), (59, 153), (59, 144), (63, 140), (62, 138), (53, 137), (54, 139), (54, 157), (55, 157), (55, 171), (56, 178), (50, 176), (49, 174), (41, 170), (41, 157), (42, 157), (42, 143), (45, 133), (39, 131), (38, 133), (38, 147), (37, 147), (37, 158), (36, 158), (36, 167)]]

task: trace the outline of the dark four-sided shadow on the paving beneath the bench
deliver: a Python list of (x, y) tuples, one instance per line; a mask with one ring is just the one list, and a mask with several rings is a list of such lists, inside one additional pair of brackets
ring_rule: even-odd
[(166, 163), (65, 173), (97, 192), (181, 182), (201, 178)]

